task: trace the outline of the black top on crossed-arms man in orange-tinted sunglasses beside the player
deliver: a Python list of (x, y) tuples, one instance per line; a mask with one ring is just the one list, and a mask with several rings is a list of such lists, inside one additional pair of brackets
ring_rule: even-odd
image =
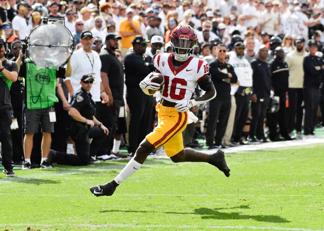
[(232, 77), (230, 78), (230, 83), (237, 83), (237, 76), (231, 64), (228, 64), (226, 62), (221, 63), (217, 59), (214, 59), (209, 64), (209, 73), (211, 74), (211, 79), (217, 92), (216, 98), (219, 98), (220, 100), (231, 99), (231, 85), (223, 81), (223, 79), (228, 78), (228, 74), (222, 71), (225, 69), (227, 73), (232, 74)]

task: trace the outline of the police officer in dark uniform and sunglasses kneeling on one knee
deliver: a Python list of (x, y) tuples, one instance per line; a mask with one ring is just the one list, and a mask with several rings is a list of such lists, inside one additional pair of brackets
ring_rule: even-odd
[[(81, 88), (76, 90), (72, 97), (70, 107), (70, 131), (71, 138), (75, 143), (77, 156), (50, 150), (48, 163), (62, 165), (87, 165), (89, 153), (96, 155), (99, 147), (104, 142), (108, 129), (94, 117), (95, 102), (91, 98), (90, 89), (93, 84), (93, 77), (86, 73), (82, 75)], [(93, 138), (89, 144), (89, 138)], [(101, 156), (101, 155), (98, 155)]]

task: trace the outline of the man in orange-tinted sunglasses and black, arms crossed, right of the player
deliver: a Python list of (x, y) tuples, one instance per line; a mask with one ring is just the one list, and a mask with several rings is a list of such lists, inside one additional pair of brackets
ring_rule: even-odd
[[(217, 45), (217, 58), (209, 63), (209, 73), (217, 95), (209, 101), (208, 126), (206, 130), (207, 149), (224, 148), (222, 139), (226, 131), (231, 110), (231, 83), (237, 83), (232, 65), (225, 62), (226, 46)], [(216, 131), (216, 135), (215, 134)], [(214, 144), (215, 140), (215, 144)]]

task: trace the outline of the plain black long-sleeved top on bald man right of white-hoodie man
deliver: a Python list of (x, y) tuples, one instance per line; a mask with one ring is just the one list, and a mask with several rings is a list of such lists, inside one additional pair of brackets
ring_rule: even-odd
[(251, 67), (253, 70), (253, 94), (258, 98), (265, 98), (270, 96), (271, 87), (271, 71), (266, 62), (260, 59), (251, 60)]

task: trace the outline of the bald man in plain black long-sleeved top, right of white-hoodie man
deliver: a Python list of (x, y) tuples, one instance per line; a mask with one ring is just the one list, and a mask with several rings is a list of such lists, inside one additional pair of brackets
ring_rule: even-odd
[[(249, 143), (266, 142), (263, 133), (263, 121), (270, 101), (271, 71), (266, 63), (268, 48), (261, 45), (259, 57), (251, 60), (253, 70), (253, 90), (251, 104), (251, 124), (248, 136)], [(256, 136), (256, 137), (255, 137)]]

